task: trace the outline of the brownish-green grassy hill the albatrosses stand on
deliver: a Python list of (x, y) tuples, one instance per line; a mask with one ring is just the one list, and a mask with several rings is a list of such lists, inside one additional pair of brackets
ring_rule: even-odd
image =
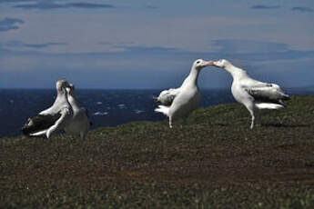
[(86, 140), (0, 139), (0, 208), (314, 208), (314, 96), (99, 128)]

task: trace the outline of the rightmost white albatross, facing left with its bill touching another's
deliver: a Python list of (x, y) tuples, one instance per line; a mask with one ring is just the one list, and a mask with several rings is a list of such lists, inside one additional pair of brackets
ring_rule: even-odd
[(225, 59), (213, 62), (213, 65), (225, 69), (232, 75), (231, 93), (238, 103), (247, 107), (251, 114), (251, 129), (254, 127), (255, 109), (279, 109), (286, 106), (283, 101), (289, 100), (289, 95), (286, 95), (279, 85), (254, 80), (245, 70)]

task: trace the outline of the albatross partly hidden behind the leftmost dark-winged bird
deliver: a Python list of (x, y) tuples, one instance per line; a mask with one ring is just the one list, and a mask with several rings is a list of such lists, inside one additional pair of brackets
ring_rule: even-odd
[(87, 109), (78, 105), (74, 85), (66, 87), (66, 91), (68, 94), (68, 102), (71, 104), (73, 109), (73, 116), (65, 127), (66, 133), (79, 135), (83, 139), (90, 128)]

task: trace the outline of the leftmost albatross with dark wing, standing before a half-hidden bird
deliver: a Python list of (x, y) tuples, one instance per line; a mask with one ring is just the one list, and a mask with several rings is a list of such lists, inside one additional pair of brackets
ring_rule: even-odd
[(28, 118), (22, 127), (23, 134), (27, 136), (46, 135), (49, 139), (51, 134), (65, 127), (73, 115), (72, 107), (67, 101), (66, 80), (56, 82), (56, 101), (48, 109)]

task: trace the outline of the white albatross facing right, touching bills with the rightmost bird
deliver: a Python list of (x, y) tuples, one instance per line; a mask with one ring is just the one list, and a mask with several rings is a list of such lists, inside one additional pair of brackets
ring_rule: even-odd
[(198, 74), (202, 68), (208, 65), (212, 65), (212, 62), (196, 60), (189, 75), (179, 88), (164, 90), (157, 97), (157, 102), (161, 105), (158, 105), (155, 111), (169, 117), (170, 128), (172, 128), (175, 118), (185, 119), (188, 114), (198, 108), (201, 98), (198, 89)]

